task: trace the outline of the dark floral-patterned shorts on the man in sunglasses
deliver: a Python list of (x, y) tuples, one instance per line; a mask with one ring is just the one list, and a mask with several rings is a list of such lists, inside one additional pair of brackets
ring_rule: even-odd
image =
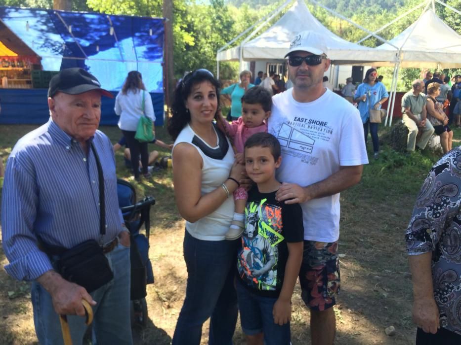
[(337, 242), (304, 241), (299, 281), (309, 309), (324, 311), (335, 305), (340, 287), (337, 249)]

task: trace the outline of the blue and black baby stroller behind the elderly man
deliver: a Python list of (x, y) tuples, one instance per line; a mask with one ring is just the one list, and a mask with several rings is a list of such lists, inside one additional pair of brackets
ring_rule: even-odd
[[(154, 273), (149, 260), (150, 209), (155, 205), (153, 197), (136, 202), (134, 187), (123, 179), (117, 179), (119, 207), (131, 236), (131, 325), (147, 323), (146, 284), (154, 283)], [(141, 234), (142, 225), (145, 235)]]

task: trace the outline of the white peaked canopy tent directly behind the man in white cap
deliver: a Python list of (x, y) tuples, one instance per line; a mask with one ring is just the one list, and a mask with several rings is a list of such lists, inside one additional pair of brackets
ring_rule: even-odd
[[(375, 61), (395, 62), (397, 47), (394, 47), (394, 50), (377, 51), (375, 48), (364, 47), (346, 41), (324, 27), (312, 15), (303, 0), (295, 0), (282, 18), (267, 31), (251, 39), (257, 34), (262, 26), (280, 13), (290, 2), (291, 1), (287, 1), (279, 9), (270, 14), (269, 18), (244, 39), (239, 46), (224, 50), (237, 38), (246, 34), (246, 32), (218, 50), (216, 54), (218, 75), (219, 61), (240, 61), (242, 63), (242, 61), (283, 59), (288, 52), (290, 41), (293, 39), (294, 35), (304, 30), (315, 31), (325, 37), (325, 44), (328, 48), (327, 55), (335, 65), (365, 64)], [(371, 33), (371, 35), (385, 41), (373, 33)], [(392, 44), (390, 44), (390, 46), (392, 47)]]

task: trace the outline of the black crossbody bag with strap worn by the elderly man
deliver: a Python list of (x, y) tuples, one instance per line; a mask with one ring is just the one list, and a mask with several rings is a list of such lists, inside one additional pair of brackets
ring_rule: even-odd
[[(99, 232), (101, 235), (104, 235), (106, 233), (104, 176), (99, 157), (92, 143), (91, 150), (93, 151), (96, 166), (98, 168), (100, 205)], [(109, 261), (104, 255), (103, 248), (96, 240), (88, 240), (70, 249), (66, 249), (48, 245), (41, 240), (40, 236), (38, 236), (38, 239), (44, 249), (43, 251), (48, 254), (54, 262), (56, 271), (64, 279), (83, 286), (86, 291), (92, 292), (114, 278)]]

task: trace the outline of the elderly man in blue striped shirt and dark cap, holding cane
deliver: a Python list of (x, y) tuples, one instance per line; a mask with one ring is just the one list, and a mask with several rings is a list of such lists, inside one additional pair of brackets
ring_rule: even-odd
[[(72, 340), (82, 344), (82, 300), (93, 309), (93, 339), (98, 344), (132, 344), (129, 234), (118, 205), (112, 145), (97, 130), (102, 95), (113, 97), (93, 75), (63, 69), (50, 81), (49, 121), (21, 138), (6, 164), (1, 207), (3, 249), (9, 261), (5, 270), (16, 279), (32, 281), (41, 344), (63, 343), (59, 314), (72, 315)], [(91, 240), (113, 277), (90, 294), (64, 279), (57, 257), (40, 244), (68, 251)]]

